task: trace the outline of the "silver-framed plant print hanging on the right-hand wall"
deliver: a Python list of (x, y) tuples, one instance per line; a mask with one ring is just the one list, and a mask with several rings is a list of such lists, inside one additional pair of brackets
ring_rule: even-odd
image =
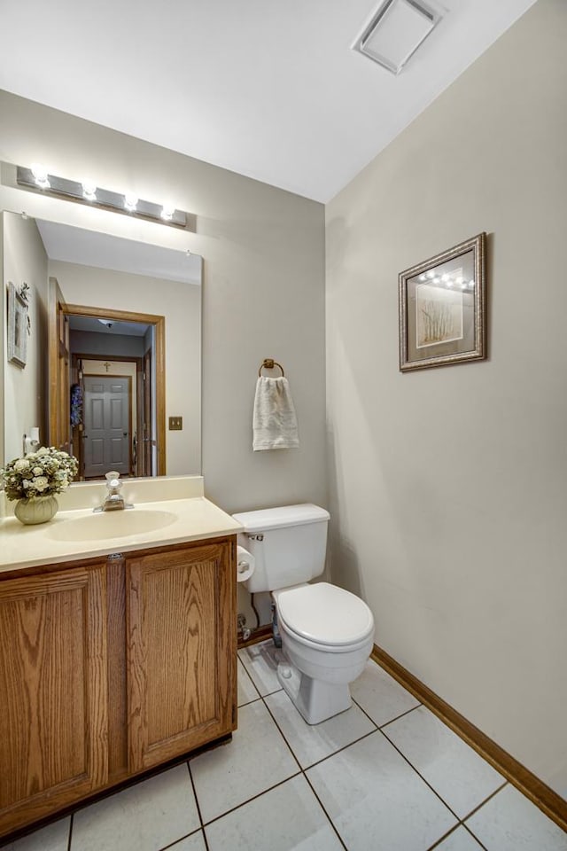
[(400, 272), (400, 371), (485, 354), (486, 234)]

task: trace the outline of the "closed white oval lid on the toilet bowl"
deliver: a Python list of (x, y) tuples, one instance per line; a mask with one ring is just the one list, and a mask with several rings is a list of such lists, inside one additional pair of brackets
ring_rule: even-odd
[(374, 629), (368, 605), (328, 582), (280, 591), (277, 611), (291, 632), (316, 644), (353, 644)]

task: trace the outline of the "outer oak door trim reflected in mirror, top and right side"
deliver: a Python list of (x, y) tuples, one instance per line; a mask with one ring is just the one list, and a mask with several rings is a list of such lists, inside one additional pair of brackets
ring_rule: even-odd
[[(113, 319), (115, 322), (139, 322), (153, 325), (155, 329), (156, 361), (156, 451), (158, 476), (166, 475), (166, 317), (150, 313), (132, 313), (129, 310), (90, 308), (82, 304), (62, 305), (68, 316), (92, 316), (97, 319)], [(132, 358), (130, 358), (132, 360)]]

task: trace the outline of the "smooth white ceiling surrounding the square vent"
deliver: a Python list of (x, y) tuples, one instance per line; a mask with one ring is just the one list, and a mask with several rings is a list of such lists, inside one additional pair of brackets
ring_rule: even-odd
[(0, 88), (326, 202), (533, 2), (443, 0), (396, 77), (382, 0), (0, 0)]

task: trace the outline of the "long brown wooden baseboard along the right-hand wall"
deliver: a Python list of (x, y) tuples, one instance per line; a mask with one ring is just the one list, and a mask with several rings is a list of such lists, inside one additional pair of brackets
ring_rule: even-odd
[(373, 659), (380, 668), (384, 668), (386, 673), (393, 676), (395, 680), (403, 685), (405, 689), (410, 691), (416, 699), (423, 703), (424, 707), (431, 709), (433, 714), (447, 724), (451, 730), (460, 736), (463, 741), (474, 748), (494, 769), (506, 777), (509, 782), (516, 786), (520, 792), (532, 800), (532, 802), (540, 808), (542, 812), (553, 819), (555, 824), (558, 824), (563, 831), (567, 831), (567, 801), (561, 795), (554, 792), (548, 785), (543, 783), (539, 777), (532, 774), (532, 771), (526, 769), (521, 762), (510, 756), (507, 751), (493, 742), (492, 738), (488, 738), (482, 730), (478, 730), (470, 721), (457, 712), (456, 709), (449, 706), (445, 700), (439, 698), (438, 694), (431, 691), (428, 686), (418, 680), (416, 676), (410, 674), (406, 668), (403, 668), (399, 662), (392, 659), (388, 653), (374, 645), (374, 650), (371, 654)]

